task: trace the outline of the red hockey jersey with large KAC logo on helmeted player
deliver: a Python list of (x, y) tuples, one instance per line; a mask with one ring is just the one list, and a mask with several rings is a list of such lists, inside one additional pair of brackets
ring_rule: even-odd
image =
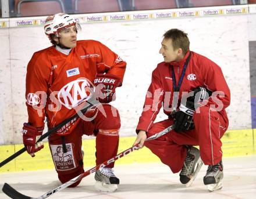
[[(125, 74), (126, 62), (98, 41), (77, 41), (69, 55), (54, 46), (35, 52), (27, 66), (26, 105), (31, 125), (49, 128), (76, 113), (73, 109), (88, 97), (86, 87), (97, 73)], [(74, 121), (72, 121), (74, 122)], [(67, 124), (70, 125), (70, 124)]]

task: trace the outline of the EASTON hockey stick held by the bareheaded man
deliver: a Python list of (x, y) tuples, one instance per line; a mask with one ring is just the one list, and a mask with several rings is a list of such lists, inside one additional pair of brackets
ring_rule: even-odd
[[(152, 135), (150, 138), (147, 138), (145, 141), (148, 140), (154, 140), (159, 138), (162, 135), (165, 135), (166, 133), (172, 131), (174, 129), (174, 125), (169, 126), (168, 128), (164, 129), (163, 131), (156, 133), (155, 135)], [(138, 150), (140, 149), (140, 147), (138, 146), (138, 144), (130, 147), (129, 149), (126, 149), (125, 151), (119, 153), (118, 155), (116, 155), (115, 157), (103, 162), (102, 164), (98, 164), (96, 167), (89, 169), (88, 171), (81, 173), (79, 176), (76, 176), (75, 178), (69, 180), (68, 182), (62, 184), (61, 186), (52, 189), (51, 191), (48, 191), (47, 193), (43, 194), (40, 197), (37, 198), (33, 198), (33, 197), (29, 197), (29, 196), (25, 196), (22, 193), (19, 193), (19, 191), (13, 189), (13, 187), (11, 187), (8, 183), (5, 183), (3, 185), (2, 191), (3, 193), (5, 193), (7, 196), (9, 196), (10, 198), (13, 199), (44, 199), (47, 198), (49, 196), (51, 196), (52, 194), (61, 191), (62, 189), (65, 189), (66, 187), (70, 186), (71, 184), (74, 184), (76, 182), (78, 182), (79, 180), (83, 179), (84, 177), (90, 175), (91, 173), (97, 171), (99, 168), (103, 168), (106, 167), (106, 165), (111, 164), (112, 162), (115, 162), (116, 160), (118, 160), (119, 158), (122, 158), (123, 156), (133, 152), (134, 150)]]

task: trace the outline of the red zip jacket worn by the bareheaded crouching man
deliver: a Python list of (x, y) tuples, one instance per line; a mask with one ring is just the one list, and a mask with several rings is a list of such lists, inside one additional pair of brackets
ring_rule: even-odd
[[(223, 93), (223, 96), (218, 96), (218, 102), (216, 97), (214, 98), (212, 96), (209, 97), (206, 106), (221, 108), (219, 113), (221, 113), (226, 124), (228, 124), (225, 108), (230, 104), (230, 91), (223, 77), (221, 68), (207, 57), (192, 51), (190, 52), (191, 58), (186, 68), (182, 85), (180, 86), (177, 107), (179, 107), (182, 92), (191, 92), (198, 86), (205, 87), (212, 92), (220, 91)], [(138, 121), (137, 131), (148, 131), (153, 125), (162, 106), (163, 112), (168, 116), (170, 115), (173, 102), (173, 79), (170, 65), (173, 66), (176, 85), (178, 85), (184, 63), (190, 52), (187, 52), (186, 56), (181, 61), (159, 63), (157, 68), (152, 72), (152, 81), (145, 98), (143, 112)]]

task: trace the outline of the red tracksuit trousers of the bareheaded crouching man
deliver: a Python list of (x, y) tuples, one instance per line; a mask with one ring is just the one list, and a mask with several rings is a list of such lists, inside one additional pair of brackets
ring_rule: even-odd
[[(222, 159), (221, 138), (227, 129), (222, 115), (209, 107), (200, 107), (200, 113), (194, 113), (195, 129), (177, 133), (171, 131), (155, 140), (145, 142), (163, 164), (173, 173), (179, 172), (187, 154), (186, 145), (199, 146), (201, 159), (205, 165), (215, 165)], [(147, 132), (147, 137), (163, 131), (173, 124), (173, 119), (157, 122)]]

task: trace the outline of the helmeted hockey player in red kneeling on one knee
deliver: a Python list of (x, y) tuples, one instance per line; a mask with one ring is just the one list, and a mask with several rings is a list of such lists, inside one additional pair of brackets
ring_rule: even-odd
[[(122, 85), (126, 62), (101, 42), (77, 41), (78, 29), (80, 25), (72, 16), (48, 16), (44, 31), (52, 46), (34, 53), (26, 75), (29, 120), (23, 126), (23, 143), (32, 157), (43, 147), (42, 142), (35, 142), (42, 135), (45, 118), (48, 128), (54, 128), (76, 114), (75, 108), (91, 97), (93, 84), (103, 86), (97, 90), (101, 103), (88, 110), (83, 119), (72, 120), (49, 136), (52, 159), (62, 183), (84, 172), (83, 135), (96, 136), (97, 165), (115, 156), (119, 143), (119, 113), (108, 103), (115, 100), (115, 89)], [(119, 179), (113, 167), (114, 163), (95, 172), (97, 190), (118, 189)]]

